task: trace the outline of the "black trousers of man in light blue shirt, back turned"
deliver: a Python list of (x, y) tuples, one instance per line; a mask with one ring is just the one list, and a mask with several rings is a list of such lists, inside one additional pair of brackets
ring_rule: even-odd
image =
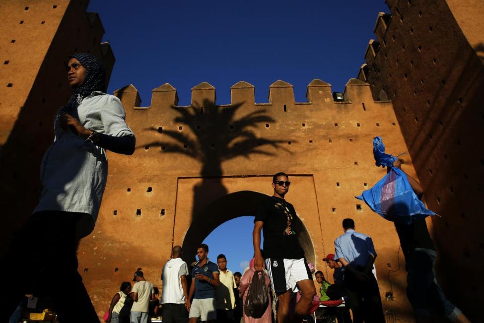
[(346, 270), (345, 285), (354, 323), (385, 323), (378, 282), (372, 272), (368, 281), (362, 282)]

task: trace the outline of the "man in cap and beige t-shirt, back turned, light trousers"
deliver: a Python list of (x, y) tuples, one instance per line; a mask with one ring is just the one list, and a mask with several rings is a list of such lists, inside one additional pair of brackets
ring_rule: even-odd
[(135, 272), (133, 281), (136, 281), (136, 283), (133, 285), (131, 294), (134, 301), (131, 308), (131, 323), (147, 323), (149, 320), (149, 301), (155, 299), (153, 284), (144, 279), (141, 270)]

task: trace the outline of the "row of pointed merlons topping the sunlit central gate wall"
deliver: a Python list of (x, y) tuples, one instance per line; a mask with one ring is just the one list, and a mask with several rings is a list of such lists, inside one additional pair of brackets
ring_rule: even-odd
[[(123, 88), (114, 91), (114, 95), (126, 101), (125, 108), (134, 108), (136, 110), (149, 109), (150, 107), (158, 105), (178, 105), (178, 94), (175, 87), (170, 83), (164, 83), (157, 88), (151, 90), (151, 104), (148, 107), (140, 107), (141, 98), (138, 90), (133, 84), (127, 85)], [(320, 79), (313, 79), (306, 88), (306, 102), (296, 102), (294, 99), (294, 89), (292, 84), (283, 80), (277, 80), (269, 86), (268, 99), (269, 104), (278, 104), (284, 102), (285, 104), (317, 104), (330, 103), (334, 104), (350, 104), (355, 96), (371, 95), (369, 84), (361, 79), (351, 78), (348, 80), (344, 90), (344, 101), (337, 102), (333, 98), (333, 91), (330, 83)], [(255, 102), (255, 86), (246, 82), (239, 81), (230, 87), (231, 105), (241, 102), (260, 104)], [(202, 102), (216, 104), (216, 89), (208, 82), (201, 82), (192, 87), (192, 99), (190, 106), (197, 107)], [(267, 104), (267, 103), (264, 103)]]

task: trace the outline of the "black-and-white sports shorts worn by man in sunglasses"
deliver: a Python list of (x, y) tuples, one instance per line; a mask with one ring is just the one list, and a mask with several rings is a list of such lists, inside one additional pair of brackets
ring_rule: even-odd
[(271, 284), (277, 294), (285, 293), (288, 290), (297, 292), (298, 281), (313, 279), (304, 258), (267, 258), (266, 268), (271, 278)]

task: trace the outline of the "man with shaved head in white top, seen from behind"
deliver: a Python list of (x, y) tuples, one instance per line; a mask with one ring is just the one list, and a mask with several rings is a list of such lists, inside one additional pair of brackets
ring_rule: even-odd
[(188, 322), (190, 312), (187, 287), (188, 266), (182, 260), (182, 254), (182, 247), (173, 247), (171, 259), (166, 261), (161, 271), (163, 323)]

